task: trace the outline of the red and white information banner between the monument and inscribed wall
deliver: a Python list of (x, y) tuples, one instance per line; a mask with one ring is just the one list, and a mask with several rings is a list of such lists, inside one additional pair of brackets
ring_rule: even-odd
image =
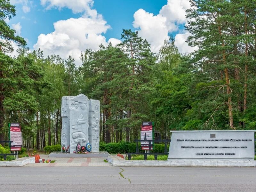
[[(143, 122), (141, 125), (140, 140), (153, 140), (153, 132), (153, 122)], [(148, 141), (141, 141), (140, 145), (142, 150), (149, 150)], [(151, 142), (150, 150), (153, 150), (153, 142)]]

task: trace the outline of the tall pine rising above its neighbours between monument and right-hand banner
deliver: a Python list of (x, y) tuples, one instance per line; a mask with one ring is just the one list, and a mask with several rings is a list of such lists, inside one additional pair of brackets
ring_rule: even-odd
[[(143, 112), (149, 110), (141, 108), (138, 105), (143, 102), (148, 102), (146, 99), (147, 93), (152, 92), (152, 66), (155, 64), (154, 54), (150, 50), (150, 44), (145, 39), (143, 40), (138, 36), (138, 31), (132, 32), (131, 29), (123, 29), (121, 38), (124, 41), (118, 46), (124, 53), (128, 55), (129, 62), (127, 67), (130, 69), (130, 74), (127, 76), (127, 82), (130, 83), (129, 90), (127, 90), (127, 122), (126, 122), (126, 141), (131, 141), (130, 128), (133, 128), (135, 138), (138, 138), (140, 130), (139, 121), (141, 121), (140, 115)], [(148, 98), (147, 98), (148, 99)], [(144, 103), (145, 104), (145, 103)], [(138, 109), (142, 110), (138, 110)], [(134, 113), (134, 118), (132, 118)], [(145, 118), (145, 117), (143, 117)]]

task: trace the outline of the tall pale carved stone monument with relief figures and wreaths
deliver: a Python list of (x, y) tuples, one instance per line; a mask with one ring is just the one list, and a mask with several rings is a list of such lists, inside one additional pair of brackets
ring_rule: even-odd
[(99, 153), (99, 109), (99, 100), (89, 100), (83, 94), (62, 97), (62, 152), (84, 152), (86, 148), (87, 151)]

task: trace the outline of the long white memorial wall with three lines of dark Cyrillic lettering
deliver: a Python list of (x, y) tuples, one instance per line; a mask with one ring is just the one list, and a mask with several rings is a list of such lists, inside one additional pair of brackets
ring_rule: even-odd
[(168, 160), (254, 161), (254, 130), (171, 132)]

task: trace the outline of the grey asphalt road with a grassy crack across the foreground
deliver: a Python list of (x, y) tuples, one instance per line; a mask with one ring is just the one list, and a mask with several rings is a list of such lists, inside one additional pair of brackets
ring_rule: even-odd
[(0, 190), (255, 192), (256, 167), (0, 167)]

